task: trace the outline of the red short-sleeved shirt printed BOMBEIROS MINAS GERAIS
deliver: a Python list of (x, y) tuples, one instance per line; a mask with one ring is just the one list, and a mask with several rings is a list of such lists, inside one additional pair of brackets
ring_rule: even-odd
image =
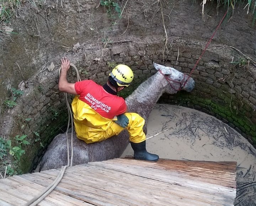
[(126, 112), (126, 102), (122, 97), (106, 92), (92, 80), (76, 82), (75, 91), (81, 101), (105, 118), (113, 119), (114, 116)]

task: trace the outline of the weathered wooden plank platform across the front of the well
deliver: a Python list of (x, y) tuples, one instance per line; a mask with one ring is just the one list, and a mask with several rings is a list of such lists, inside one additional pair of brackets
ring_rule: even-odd
[[(23, 205), (46, 188), (59, 170), (0, 180), (0, 205)], [(236, 162), (121, 158), (66, 169), (38, 205), (234, 205)]]

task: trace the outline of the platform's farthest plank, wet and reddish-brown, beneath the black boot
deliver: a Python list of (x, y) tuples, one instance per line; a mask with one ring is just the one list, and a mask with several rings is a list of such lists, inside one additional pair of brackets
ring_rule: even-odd
[[(128, 158), (119, 158), (109, 160), (108, 163), (119, 163), (126, 166), (150, 167), (156, 169), (165, 169), (187, 174), (191, 178), (197, 178), (201, 181), (217, 183), (222, 186), (235, 188), (236, 186), (236, 162), (209, 162), (209, 161), (185, 161), (185, 160), (167, 160), (160, 159), (157, 162), (138, 161)], [(90, 164), (90, 163), (89, 163)], [(222, 178), (219, 180), (219, 178)], [(225, 178), (223, 178), (225, 177)]]

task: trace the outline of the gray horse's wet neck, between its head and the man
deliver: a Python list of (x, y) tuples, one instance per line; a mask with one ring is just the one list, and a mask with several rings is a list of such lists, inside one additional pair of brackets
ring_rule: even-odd
[(129, 112), (137, 112), (147, 118), (158, 99), (164, 93), (166, 85), (165, 78), (159, 72), (148, 78), (126, 98)]

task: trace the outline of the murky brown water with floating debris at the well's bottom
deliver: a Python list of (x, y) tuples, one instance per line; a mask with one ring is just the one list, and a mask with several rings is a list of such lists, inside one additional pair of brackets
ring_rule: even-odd
[[(168, 128), (168, 129), (167, 129)], [(148, 120), (147, 150), (160, 158), (235, 161), (235, 205), (255, 206), (256, 149), (227, 124), (186, 107), (156, 104)], [(122, 157), (133, 155), (130, 145)]]

